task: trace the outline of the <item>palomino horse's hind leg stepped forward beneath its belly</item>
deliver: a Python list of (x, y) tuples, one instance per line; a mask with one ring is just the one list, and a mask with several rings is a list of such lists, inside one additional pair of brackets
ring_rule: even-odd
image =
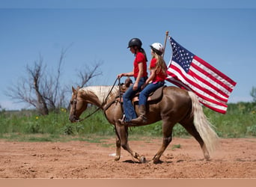
[(174, 123), (170, 123), (171, 120), (162, 120), (162, 146), (160, 147), (159, 151), (156, 153), (156, 155), (153, 157), (153, 163), (156, 164), (160, 161), (160, 157), (162, 156), (162, 153), (164, 153), (166, 147), (168, 147), (168, 144), (171, 143), (172, 140), (172, 129), (174, 127)]

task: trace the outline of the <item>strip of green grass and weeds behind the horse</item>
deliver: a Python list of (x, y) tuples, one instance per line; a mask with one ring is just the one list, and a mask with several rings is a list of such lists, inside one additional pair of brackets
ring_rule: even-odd
[[(93, 110), (94, 107), (89, 108), (82, 117)], [(216, 132), (222, 138), (256, 137), (255, 102), (229, 104), (227, 114), (219, 114), (208, 108), (204, 108), (204, 113), (216, 126)], [(0, 111), (0, 138), (16, 141), (80, 140), (98, 143), (103, 143), (102, 137), (115, 138), (114, 126), (109, 124), (102, 111), (79, 123), (70, 123), (68, 117), (69, 112), (65, 108), (47, 116), (40, 116), (36, 111)], [(129, 135), (134, 139), (162, 137), (162, 122), (129, 128)], [(177, 124), (174, 126), (173, 136), (188, 137), (189, 134), (183, 126)]]

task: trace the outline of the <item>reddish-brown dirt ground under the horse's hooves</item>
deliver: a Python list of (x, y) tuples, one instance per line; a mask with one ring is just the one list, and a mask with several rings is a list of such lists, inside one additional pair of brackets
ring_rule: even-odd
[(123, 149), (115, 162), (115, 138), (101, 143), (0, 140), (0, 178), (256, 178), (256, 138), (220, 139), (208, 162), (195, 139), (174, 138), (157, 165), (150, 159), (162, 139), (142, 139), (129, 144), (147, 158), (145, 164)]

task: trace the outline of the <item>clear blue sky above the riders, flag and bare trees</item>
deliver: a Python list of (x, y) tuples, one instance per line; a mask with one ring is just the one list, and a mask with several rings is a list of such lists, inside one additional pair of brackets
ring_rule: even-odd
[[(8, 85), (25, 77), (26, 65), (39, 56), (54, 70), (61, 49), (62, 82), (73, 85), (79, 69), (102, 61), (103, 76), (94, 85), (112, 85), (118, 73), (132, 70), (127, 49), (132, 37), (149, 45), (163, 43), (169, 31), (178, 43), (237, 82), (229, 102), (251, 101), (256, 87), (256, 6), (253, 1), (15, 1), (0, 0), (0, 105), (20, 109), (4, 95)], [(97, 3), (98, 2), (98, 3)], [(109, 2), (109, 3), (106, 3)], [(242, 1), (241, 1), (242, 2)], [(14, 4), (14, 5), (13, 5)], [(136, 6), (135, 6), (136, 5)], [(171, 58), (167, 43), (165, 61)], [(171, 83), (167, 83), (171, 85)]]

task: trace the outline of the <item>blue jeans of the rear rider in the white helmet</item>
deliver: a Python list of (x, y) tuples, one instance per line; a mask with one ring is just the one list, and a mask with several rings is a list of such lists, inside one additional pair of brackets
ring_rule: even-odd
[(141, 93), (139, 93), (138, 105), (146, 105), (147, 97), (149, 96), (149, 94), (152, 93), (153, 91), (156, 91), (157, 88), (160, 88), (163, 85), (165, 85), (165, 82), (156, 82), (155, 84), (154, 83), (150, 83), (149, 85), (147, 85), (141, 91)]

